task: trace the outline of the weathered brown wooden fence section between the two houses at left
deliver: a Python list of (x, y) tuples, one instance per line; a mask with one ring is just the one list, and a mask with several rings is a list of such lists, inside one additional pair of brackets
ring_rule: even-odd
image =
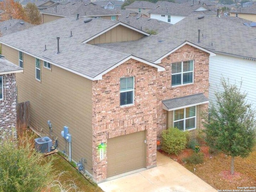
[(17, 104), (17, 125), (29, 126), (30, 122), (30, 111), (29, 111), (29, 101)]

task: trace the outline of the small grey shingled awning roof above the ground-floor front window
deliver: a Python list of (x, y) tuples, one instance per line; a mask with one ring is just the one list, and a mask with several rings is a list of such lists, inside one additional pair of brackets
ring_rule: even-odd
[(163, 100), (163, 109), (167, 111), (178, 110), (181, 108), (191, 107), (195, 105), (201, 105), (208, 103), (209, 99), (204, 96), (203, 93), (198, 93), (194, 95), (188, 95), (184, 97), (178, 97), (168, 100)]

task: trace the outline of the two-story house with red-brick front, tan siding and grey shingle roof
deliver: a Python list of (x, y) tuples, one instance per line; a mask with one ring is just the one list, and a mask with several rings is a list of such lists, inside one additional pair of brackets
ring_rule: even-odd
[(156, 166), (162, 130), (202, 128), (215, 54), (186, 40), (122, 22), (65, 17), (0, 42), (11, 62), (18, 65), (22, 55), (18, 102), (30, 101), (30, 126), (50, 136), (50, 120), (58, 149), (81, 161), (95, 182)]

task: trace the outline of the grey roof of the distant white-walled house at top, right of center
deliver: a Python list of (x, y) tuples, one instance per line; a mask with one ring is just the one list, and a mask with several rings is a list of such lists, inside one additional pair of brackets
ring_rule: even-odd
[(180, 15), (180, 16), (188, 16), (192, 12), (197, 12), (199, 8), (205, 8), (207, 11), (201, 12), (212, 12), (210, 8), (206, 7), (203, 2), (195, 2), (194, 4), (188, 3), (174, 3), (171, 6), (160, 6), (150, 10), (148, 13), (150, 14), (171, 14), (171, 15)]

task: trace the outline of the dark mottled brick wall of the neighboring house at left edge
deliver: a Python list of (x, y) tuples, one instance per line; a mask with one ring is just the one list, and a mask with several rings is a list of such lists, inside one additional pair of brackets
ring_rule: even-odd
[(16, 137), (16, 74), (3, 76), (3, 100), (0, 100), (0, 140)]

